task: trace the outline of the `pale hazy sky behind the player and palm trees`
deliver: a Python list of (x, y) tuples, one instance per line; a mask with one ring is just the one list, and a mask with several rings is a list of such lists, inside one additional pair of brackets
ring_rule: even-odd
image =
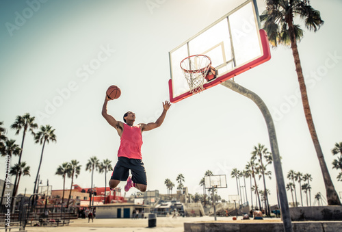
[[(90, 172), (85, 168), (91, 156), (116, 164), (120, 138), (101, 116), (107, 87), (115, 84), (122, 90), (120, 99), (108, 105), (109, 114), (116, 119), (122, 120), (124, 112), (131, 110), (137, 114), (136, 123), (156, 120), (161, 102), (168, 100), (168, 52), (244, 1), (36, 2), (0, 2), (0, 121), (9, 129), (17, 115), (29, 112), (38, 125), (55, 128), (57, 143), (46, 146), (40, 176), (44, 183), (49, 179), (53, 189), (61, 189), (62, 178), (55, 170), (63, 162), (80, 162), (81, 175), (75, 183), (83, 188), (90, 187)], [(151, 8), (148, 2), (157, 5)], [(319, 142), (334, 186), (342, 192), (330, 151), (335, 142), (342, 142), (342, 111), (338, 107), (342, 99), (338, 20), (342, 3), (313, 0), (311, 5), (321, 12), (325, 23), (317, 33), (305, 30), (298, 49)], [(258, 1), (258, 6), (263, 12), (263, 1)], [(25, 21), (18, 15), (25, 15)], [(8, 23), (18, 26), (11, 30)], [(259, 94), (269, 107), (284, 175), (291, 169), (309, 173), (313, 194), (325, 194), (302, 103), (296, 95), (299, 87), (291, 49), (272, 49), (269, 62), (235, 81)], [(22, 134), (15, 136), (14, 132), (9, 129), (7, 136), (21, 144)], [(257, 106), (224, 86), (173, 104), (163, 125), (144, 133), (143, 140), (149, 190), (166, 194), (165, 179), (176, 183), (176, 176), (183, 173), (189, 192), (202, 194), (198, 183), (206, 170), (212, 170), (228, 176), (228, 188), (219, 190), (226, 200), (237, 194), (235, 179), (230, 177), (232, 169), (243, 169), (258, 143), (270, 149)], [(25, 188), (33, 192), (40, 151), (41, 146), (27, 136), (23, 161), (31, 166), (31, 177), (21, 179), (19, 192)], [(4, 167), (3, 159), (0, 165)], [(103, 174), (96, 173), (94, 183), (104, 186)], [(275, 186), (273, 175), (267, 180), (272, 203), (276, 203)], [(133, 193), (130, 190), (128, 194)], [(291, 201), (291, 194), (288, 196)]]

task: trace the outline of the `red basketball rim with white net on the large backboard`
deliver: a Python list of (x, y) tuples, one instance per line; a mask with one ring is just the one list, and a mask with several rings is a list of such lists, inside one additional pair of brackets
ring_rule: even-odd
[(211, 60), (207, 55), (190, 55), (181, 61), (185, 79), (189, 84), (190, 92), (196, 94), (205, 90), (203, 84), (207, 73), (211, 70)]

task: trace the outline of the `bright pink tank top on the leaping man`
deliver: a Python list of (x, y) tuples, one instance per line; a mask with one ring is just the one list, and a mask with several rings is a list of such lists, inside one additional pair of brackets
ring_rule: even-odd
[(124, 123), (118, 157), (142, 159), (142, 132), (140, 125), (130, 127)]

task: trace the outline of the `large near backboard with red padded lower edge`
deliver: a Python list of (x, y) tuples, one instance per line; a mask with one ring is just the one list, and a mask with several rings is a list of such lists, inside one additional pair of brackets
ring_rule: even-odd
[(169, 53), (170, 101), (176, 103), (192, 96), (180, 67), (190, 55), (207, 55), (216, 78), (205, 80), (204, 90), (231, 79), (271, 58), (267, 34), (259, 29), (259, 13), (254, 0), (239, 5), (209, 27), (183, 42)]

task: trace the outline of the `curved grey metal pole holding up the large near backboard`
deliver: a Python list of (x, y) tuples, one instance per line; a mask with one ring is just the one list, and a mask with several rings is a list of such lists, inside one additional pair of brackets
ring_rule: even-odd
[(279, 198), (280, 198), (280, 206), (281, 206), (281, 214), (282, 214), (282, 221), (284, 224), (284, 231), (285, 232), (292, 232), (292, 224), (291, 224), (291, 216), (289, 211), (289, 203), (287, 201), (286, 189), (285, 189), (285, 181), (284, 176), (282, 175), (282, 166), (280, 162), (280, 154), (278, 149), (278, 142), (276, 139), (276, 129), (274, 127), (272, 115), (269, 113), (269, 110), (263, 100), (255, 94), (254, 92), (240, 86), (239, 84), (233, 81), (224, 81), (221, 83), (222, 86), (229, 88), (241, 95), (244, 95), (254, 101), (257, 104), (263, 117), (265, 118), (265, 123), (268, 129), (268, 136), (269, 136), (269, 143), (271, 144), (271, 151), (273, 157), (273, 164), (274, 164), (274, 172), (276, 175), (276, 183), (278, 186), (279, 191)]

